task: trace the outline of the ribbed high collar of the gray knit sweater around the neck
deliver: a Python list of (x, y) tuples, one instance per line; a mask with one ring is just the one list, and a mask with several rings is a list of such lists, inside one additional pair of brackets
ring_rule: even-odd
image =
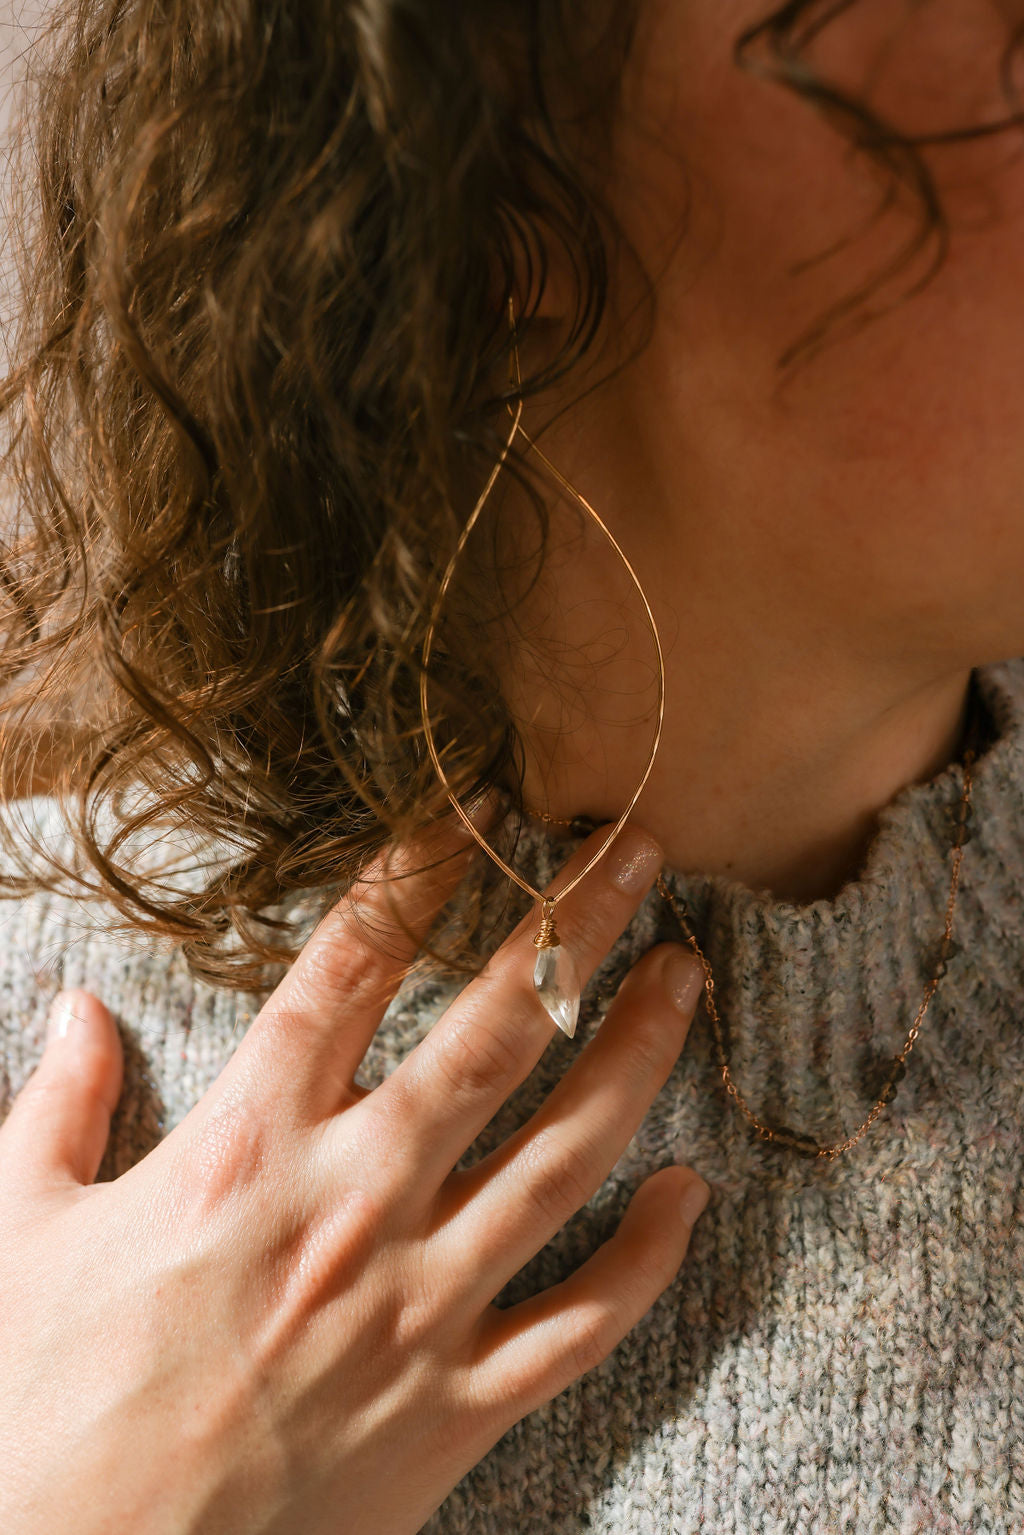
[[(979, 1010), (1018, 1008), (1024, 1022), (1024, 659), (978, 668), (975, 682), (989, 734), (973, 766), (973, 835), (952, 930), (961, 952), (932, 998), (909, 1073), (930, 1070), (953, 1035), (960, 1058)], [(903, 789), (880, 812), (860, 873), (834, 900), (798, 906), (722, 875), (666, 870), (714, 972), (732, 1076), (758, 1117), (820, 1141), (866, 1117), (872, 1064), (903, 1048), (935, 973), (949, 818), (963, 786), (956, 761)], [(530, 824), (516, 863), (545, 881), (576, 841)], [(679, 936), (652, 890), (588, 987), (582, 1032), (640, 953)], [(699, 1012), (709, 1030), (703, 1002)]]

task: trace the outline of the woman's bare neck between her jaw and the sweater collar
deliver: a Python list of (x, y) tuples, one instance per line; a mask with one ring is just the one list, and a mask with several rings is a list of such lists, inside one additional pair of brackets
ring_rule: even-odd
[[(597, 553), (556, 551), (527, 629), (543, 640), (508, 655), (502, 685), (527, 746), (527, 804), (614, 821), (646, 763), (657, 689), (642, 609), (622, 586), (613, 597), (586, 582), (616, 563)], [(674, 597), (649, 559), (646, 574), (665, 725), (633, 818), (671, 867), (798, 904), (834, 898), (863, 866), (878, 812), (961, 755), (972, 668), (915, 668), (884, 637), (861, 657), (838, 637), (788, 643), (786, 622), (772, 632), (725, 608), (715, 622), (714, 603), (685, 585)]]

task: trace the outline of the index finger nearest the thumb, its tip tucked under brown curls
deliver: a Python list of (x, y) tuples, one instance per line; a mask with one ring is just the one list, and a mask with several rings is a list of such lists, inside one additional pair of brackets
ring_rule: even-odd
[[(490, 803), (474, 824), (493, 820)], [(482, 820), (481, 820), (482, 818)], [(322, 918), (224, 1068), (247, 1101), (316, 1122), (356, 1099), (353, 1078), (384, 1010), (465, 875), (476, 843), (445, 817), (384, 852)]]

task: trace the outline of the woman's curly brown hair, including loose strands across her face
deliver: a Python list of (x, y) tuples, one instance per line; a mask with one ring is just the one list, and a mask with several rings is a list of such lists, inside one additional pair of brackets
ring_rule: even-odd
[[(923, 250), (910, 292), (946, 253), (920, 152), (940, 140), (895, 132), (809, 63), (857, 3), (789, 0), (734, 45), (921, 206), (906, 249), (781, 368), (869, 315)], [(502, 441), (508, 299), (536, 302), (556, 246), (576, 313), (524, 393), (599, 335), (617, 233), (594, 146), (634, 18), (636, 0), (52, 11), (11, 213), (0, 760), (8, 801), (54, 795), (77, 853), (6, 818), (8, 893), (103, 895), (197, 975), (266, 985), (299, 942), (296, 896), (325, 909), (444, 812), (419, 721), (424, 622)], [(499, 586), (477, 585), (473, 622), (499, 614)], [(453, 603), (431, 660), (450, 778), (516, 804), (519, 738), (465, 623)], [(137, 857), (167, 829), (218, 849), (184, 884)]]

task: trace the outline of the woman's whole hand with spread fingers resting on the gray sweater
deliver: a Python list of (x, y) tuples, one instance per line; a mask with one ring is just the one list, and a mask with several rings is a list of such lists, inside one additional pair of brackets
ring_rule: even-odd
[[(398, 886), (416, 935), (401, 958), (393, 924), (373, 938), (381, 881), (335, 907), (206, 1096), (111, 1183), (92, 1179), (120, 1041), (95, 998), (68, 993), (68, 1032), (0, 1130), (5, 1535), (411, 1535), (676, 1276), (702, 1203), (682, 1167), (649, 1177), (560, 1285), (491, 1305), (666, 1081), (699, 995), (682, 947), (634, 966), (533, 1119), (470, 1170), (453, 1171), (551, 1038), (536, 915), (385, 1082), (355, 1082), (464, 872), (456, 850)], [(626, 829), (559, 904), (580, 975), (659, 863)]]

